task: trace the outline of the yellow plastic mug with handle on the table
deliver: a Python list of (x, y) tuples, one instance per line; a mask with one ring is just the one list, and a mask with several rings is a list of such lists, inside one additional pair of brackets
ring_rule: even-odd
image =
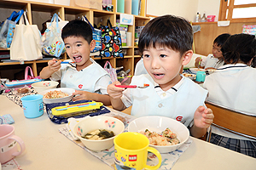
[[(149, 140), (141, 133), (120, 133), (113, 139), (114, 169), (158, 169), (161, 165), (161, 155), (158, 150), (149, 147)], [(155, 166), (147, 165), (148, 151), (158, 158)]]

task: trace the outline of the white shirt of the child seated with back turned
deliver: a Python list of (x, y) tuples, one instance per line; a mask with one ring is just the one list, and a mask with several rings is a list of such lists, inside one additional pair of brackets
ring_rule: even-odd
[[(207, 100), (256, 115), (255, 87), (256, 69), (245, 64), (220, 66), (206, 77), (203, 84), (203, 88), (209, 91)], [(229, 138), (247, 139), (218, 128), (212, 128), (212, 132)]]

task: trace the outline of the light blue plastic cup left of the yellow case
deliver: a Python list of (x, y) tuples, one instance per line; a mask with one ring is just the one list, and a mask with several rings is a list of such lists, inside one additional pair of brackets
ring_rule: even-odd
[(22, 108), (26, 118), (36, 118), (44, 114), (43, 95), (32, 94), (22, 97)]

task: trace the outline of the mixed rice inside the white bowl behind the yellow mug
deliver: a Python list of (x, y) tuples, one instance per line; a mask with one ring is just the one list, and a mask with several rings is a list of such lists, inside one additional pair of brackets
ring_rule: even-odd
[(179, 139), (177, 139), (177, 134), (172, 133), (168, 127), (161, 133), (150, 132), (148, 129), (139, 133), (144, 134), (149, 139), (149, 144), (166, 146), (180, 143)]

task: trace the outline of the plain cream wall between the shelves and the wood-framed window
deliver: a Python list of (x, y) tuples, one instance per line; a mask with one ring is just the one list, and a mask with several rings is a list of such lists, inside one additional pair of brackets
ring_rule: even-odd
[(220, 0), (147, 0), (147, 14), (160, 16), (163, 14), (174, 14), (195, 22), (195, 15), (200, 12), (206, 15), (216, 15), (218, 20), (218, 9)]

